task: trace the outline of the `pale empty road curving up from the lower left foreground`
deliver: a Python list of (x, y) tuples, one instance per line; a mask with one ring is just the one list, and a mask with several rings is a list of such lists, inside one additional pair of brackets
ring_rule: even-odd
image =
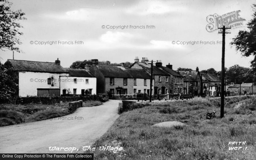
[(71, 153), (63, 149), (49, 151), (50, 146), (75, 147), (78, 151), (72, 153), (83, 153), (82, 146), (92, 145), (119, 117), (118, 102), (109, 100), (101, 106), (78, 108), (61, 117), (66, 120), (0, 127), (0, 153)]

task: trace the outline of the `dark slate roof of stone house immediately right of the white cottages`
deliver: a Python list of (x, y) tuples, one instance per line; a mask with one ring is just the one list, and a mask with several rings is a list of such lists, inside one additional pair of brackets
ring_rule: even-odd
[(99, 64), (97, 67), (105, 77), (133, 78), (122, 66)]

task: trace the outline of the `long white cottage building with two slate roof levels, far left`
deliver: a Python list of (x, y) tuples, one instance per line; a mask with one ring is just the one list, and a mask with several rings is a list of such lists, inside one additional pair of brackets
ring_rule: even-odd
[[(7, 60), (5, 66), (14, 67), (19, 71), (18, 95), (20, 97), (60, 96), (65, 89), (65, 94), (68, 94), (69, 91), (71, 94), (82, 94), (82, 89), (84, 92), (88, 89), (89, 93), (96, 94), (94, 75), (80, 69), (77, 71), (75, 71), (76, 69), (65, 69), (60, 65), (59, 58), (55, 62)], [(69, 72), (71, 73), (69, 74)], [(79, 80), (84, 80), (84, 84)], [(74, 93), (75, 89), (77, 90)]]

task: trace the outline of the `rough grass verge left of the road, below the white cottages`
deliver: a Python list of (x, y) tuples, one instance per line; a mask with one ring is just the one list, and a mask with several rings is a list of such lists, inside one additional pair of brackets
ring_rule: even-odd
[[(99, 106), (100, 101), (83, 102), (83, 107)], [(52, 105), (46, 104), (0, 104), (0, 126), (42, 121), (71, 114), (67, 108), (68, 102)]]

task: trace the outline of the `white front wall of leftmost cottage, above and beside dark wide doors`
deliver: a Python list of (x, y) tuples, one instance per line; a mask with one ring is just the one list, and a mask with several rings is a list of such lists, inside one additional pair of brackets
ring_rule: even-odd
[[(67, 73), (19, 72), (19, 96), (37, 96), (37, 88), (59, 88), (59, 76)], [(47, 83), (47, 79), (54, 77), (54, 86)]]

